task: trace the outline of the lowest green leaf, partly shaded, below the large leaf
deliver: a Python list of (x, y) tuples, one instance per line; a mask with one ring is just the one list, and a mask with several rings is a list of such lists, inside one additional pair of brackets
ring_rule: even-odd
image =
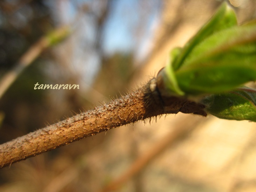
[(239, 88), (237, 90), (211, 95), (204, 98), (203, 104), (210, 114), (232, 120), (248, 120), (256, 122), (256, 90)]

